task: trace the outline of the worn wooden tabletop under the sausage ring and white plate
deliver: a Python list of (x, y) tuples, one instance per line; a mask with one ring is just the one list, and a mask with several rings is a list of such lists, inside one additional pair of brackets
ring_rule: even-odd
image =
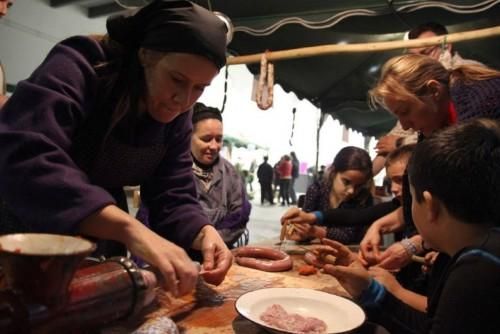
[(319, 272), (310, 276), (299, 275), (297, 268), (304, 264), (303, 256), (296, 254), (292, 257), (294, 265), (290, 271), (269, 273), (234, 263), (226, 279), (219, 286), (208, 285), (200, 280), (193, 295), (180, 299), (173, 299), (160, 292), (159, 303), (148, 310), (144, 317), (131, 320), (120, 327), (124, 333), (130, 333), (141, 323), (168, 316), (175, 321), (181, 333), (263, 334), (267, 332), (239, 316), (235, 309), (236, 299), (246, 292), (270, 287), (300, 287), (347, 295), (337, 280), (330, 275)]

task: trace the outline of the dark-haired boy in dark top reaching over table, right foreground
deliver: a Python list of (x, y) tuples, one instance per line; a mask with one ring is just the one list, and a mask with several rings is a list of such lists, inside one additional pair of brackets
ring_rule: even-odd
[[(498, 333), (500, 328), (500, 126), (473, 120), (419, 143), (409, 165), (412, 216), (426, 244), (451, 257), (429, 295), (425, 333)], [(339, 257), (350, 256), (337, 247)], [(350, 257), (327, 265), (364, 306), (412, 326), (419, 313)], [(383, 324), (382, 324), (383, 325)]]

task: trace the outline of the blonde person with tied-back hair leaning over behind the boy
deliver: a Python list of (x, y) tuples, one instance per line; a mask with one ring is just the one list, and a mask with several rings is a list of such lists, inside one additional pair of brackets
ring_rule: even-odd
[[(387, 61), (369, 97), (372, 105), (392, 112), (403, 129), (419, 131), (422, 139), (465, 120), (479, 117), (500, 119), (500, 72), (478, 65), (447, 70), (429, 56), (407, 54)], [(373, 224), (361, 241), (363, 257), (369, 262), (380, 261), (378, 242), (381, 231), (393, 232), (406, 222), (405, 234), (415, 234), (409, 212), (409, 191), (403, 192), (403, 203), (404, 220), (401, 219), (402, 209), (398, 209), (384, 219), (383, 224)], [(411, 246), (412, 250), (421, 250), (419, 242), (413, 241)], [(392, 250), (389, 252), (394, 256), (384, 257), (387, 266), (399, 267), (402, 257), (397, 257), (397, 252)]]

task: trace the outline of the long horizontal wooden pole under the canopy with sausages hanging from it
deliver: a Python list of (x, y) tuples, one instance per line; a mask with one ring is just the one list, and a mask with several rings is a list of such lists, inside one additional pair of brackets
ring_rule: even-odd
[[(454, 34), (412, 39), (407, 41), (390, 41), (390, 42), (375, 42), (375, 43), (357, 43), (357, 44), (328, 44), (318, 45), (305, 48), (297, 48), (281, 51), (268, 51), (266, 57), (269, 61), (297, 59), (307, 57), (317, 57), (336, 53), (365, 53), (365, 52), (379, 52), (386, 50), (406, 49), (406, 48), (419, 48), (432, 45), (441, 45), (446, 43), (456, 43), (469, 40), (477, 40), (489, 37), (500, 36), (500, 26), (478, 29), (472, 31), (457, 32)], [(236, 64), (251, 64), (260, 62), (262, 53), (228, 57), (228, 65)]]

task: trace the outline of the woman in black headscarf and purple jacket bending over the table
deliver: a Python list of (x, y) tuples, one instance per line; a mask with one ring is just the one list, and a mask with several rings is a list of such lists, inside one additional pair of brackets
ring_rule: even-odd
[[(118, 242), (176, 295), (195, 286), (184, 249), (197, 249), (219, 284), (232, 256), (196, 200), (190, 138), (226, 27), (191, 2), (155, 0), (107, 30), (57, 44), (3, 108), (0, 230)], [(151, 229), (125, 211), (125, 185), (141, 185)]]

